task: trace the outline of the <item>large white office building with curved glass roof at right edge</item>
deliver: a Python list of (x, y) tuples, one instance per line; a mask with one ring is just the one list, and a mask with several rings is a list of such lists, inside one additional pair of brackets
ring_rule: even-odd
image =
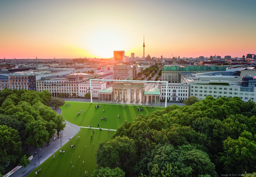
[[(253, 73), (253, 71), (250, 71)], [(208, 95), (214, 98), (239, 97), (247, 102), (256, 99), (256, 77), (235, 75), (235, 71), (222, 71), (225, 75), (214, 75), (215, 72), (197, 74), (186, 78), (190, 85), (190, 96), (196, 96), (199, 100)], [(220, 73), (220, 72), (219, 72)]]

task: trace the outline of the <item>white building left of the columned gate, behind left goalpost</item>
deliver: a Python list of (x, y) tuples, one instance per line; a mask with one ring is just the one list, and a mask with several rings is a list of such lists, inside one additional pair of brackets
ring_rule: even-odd
[[(91, 92), (90, 88), (90, 82), (81, 82), (79, 85), (79, 94), (80, 97), (85, 97), (86, 93)], [(106, 82), (98, 82), (98, 81), (92, 81), (92, 97), (98, 98), (98, 92), (99, 90), (106, 89)]]

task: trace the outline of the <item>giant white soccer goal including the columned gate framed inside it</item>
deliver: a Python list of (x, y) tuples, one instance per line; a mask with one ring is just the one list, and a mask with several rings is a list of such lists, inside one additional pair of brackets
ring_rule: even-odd
[[(91, 103), (133, 104), (148, 106), (167, 106), (167, 88), (165, 100), (161, 100), (161, 84), (168, 85), (168, 81), (145, 80), (90, 80)], [(163, 93), (162, 93), (163, 94)]]

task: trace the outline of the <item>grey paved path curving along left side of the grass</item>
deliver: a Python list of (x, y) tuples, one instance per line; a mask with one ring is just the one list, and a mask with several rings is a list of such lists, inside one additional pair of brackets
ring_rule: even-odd
[[(54, 111), (56, 111), (58, 114), (61, 114), (61, 109), (57, 109), (57, 110), (54, 109)], [(76, 126), (66, 121), (66, 127), (64, 128), (63, 136), (58, 139), (57, 135), (54, 134), (56, 139), (54, 140), (54, 138), (52, 138), (48, 146), (47, 146), (47, 143), (45, 143), (41, 147), (41, 150), (39, 150), (40, 164), (42, 164), (45, 160), (47, 160), (47, 158), (51, 157), (55, 151), (61, 148), (61, 143), (62, 143), (62, 146), (65, 145), (69, 141), (69, 137), (70, 136), (74, 137), (79, 131), (80, 131), (79, 126)], [(12, 174), (11, 177), (25, 177), (40, 165), (38, 164), (38, 156), (35, 157), (35, 151), (36, 150), (34, 147), (30, 146), (28, 148), (28, 151), (26, 151), (26, 153), (33, 154), (33, 159), (31, 160), (31, 162), (26, 168), (21, 167), (19, 170), (17, 170), (17, 172)]]

